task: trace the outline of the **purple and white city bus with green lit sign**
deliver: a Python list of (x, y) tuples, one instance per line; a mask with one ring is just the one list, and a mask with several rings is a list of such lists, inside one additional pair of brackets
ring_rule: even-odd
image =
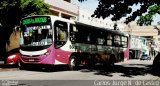
[(37, 65), (114, 64), (128, 58), (128, 36), (53, 15), (21, 19), (20, 63)]

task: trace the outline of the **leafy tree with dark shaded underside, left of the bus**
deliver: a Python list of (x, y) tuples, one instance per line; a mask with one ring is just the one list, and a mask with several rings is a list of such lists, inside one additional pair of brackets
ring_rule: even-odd
[(0, 57), (6, 52), (10, 34), (20, 19), (30, 15), (49, 13), (49, 5), (44, 0), (1, 0), (0, 1)]

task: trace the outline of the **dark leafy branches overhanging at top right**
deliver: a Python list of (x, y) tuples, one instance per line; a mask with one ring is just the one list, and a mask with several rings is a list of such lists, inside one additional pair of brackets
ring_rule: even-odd
[[(79, 0), (80, 2), (86, 0)], [(120, 20), (122, 17), (127, 17), (125, 19), (125, 23), (128, 24), (129, 22), (135, 20), (138, 16), (141, 16), (140, 19), (137, 21), (140, 25), (148, 25), (151, 24), (153, 21), (153, 16), (158, 13), (159, 11), (159, 4), (160, 0), (98, 0), (99, 5), (95, 10), (92, 17), (96, 18), (106, 18), (111, 16), (111, 20), (117, 21)], [(133, 5), (140, 5), (140, 9), (132, 12)], [(142, 16), (150, 10), (146, 15)], [(127, 16), (130, 14), (130, 16)]]

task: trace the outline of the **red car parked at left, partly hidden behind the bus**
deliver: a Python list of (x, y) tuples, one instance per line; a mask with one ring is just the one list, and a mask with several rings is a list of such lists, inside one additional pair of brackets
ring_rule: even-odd
[(19, 58), (20, 58), (19, 48), (15, 48), (15, 49), (7, 52), (5, 64), (15, 65), (18, 67), (19, 66)]

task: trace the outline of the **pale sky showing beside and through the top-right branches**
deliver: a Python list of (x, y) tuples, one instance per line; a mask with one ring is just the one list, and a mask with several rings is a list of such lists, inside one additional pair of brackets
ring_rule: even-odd
[[(94, 12), (94, 10), (98, 7), (98, 0), (87, 0), (84, 2), (78, 2), (78, 0), (73, 0), (73, 3), (84, 8), (87, 9), (88, 11)], [(136, 9), (140, 8), (140, 6), (133, 6), (133, 11), (135, 11)], [(156, 25), (158, 21), (160, 21), (160, 15), (155, 15), (153, 17), (154, 22), (152, 23), (152, 25)], [(108, 18), (109, 19), (109, 18)], [(125, 18), (122, 18), (120, 21), (124, 21)], [(138, 19), (138, 18), (136, 18)]]

